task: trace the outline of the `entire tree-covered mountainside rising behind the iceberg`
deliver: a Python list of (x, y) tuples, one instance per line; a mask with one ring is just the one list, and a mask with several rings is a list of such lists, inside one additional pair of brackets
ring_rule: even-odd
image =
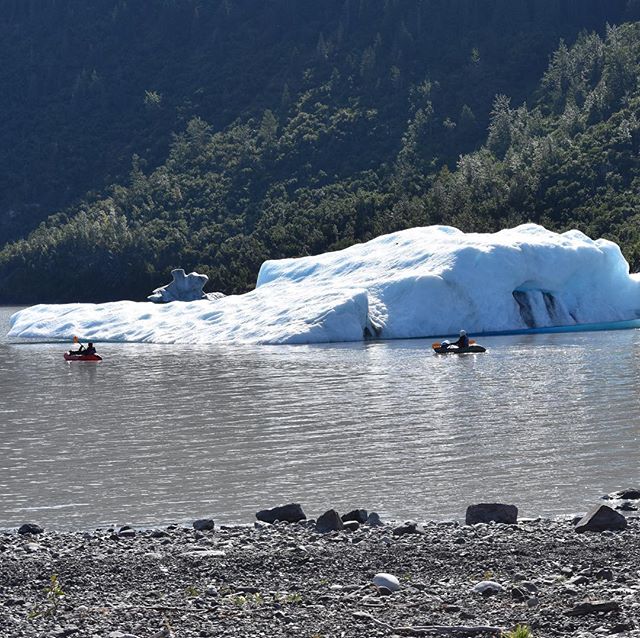
[(0, 0), (0, 302), (524, 221), (640, 267), (637, 0)]

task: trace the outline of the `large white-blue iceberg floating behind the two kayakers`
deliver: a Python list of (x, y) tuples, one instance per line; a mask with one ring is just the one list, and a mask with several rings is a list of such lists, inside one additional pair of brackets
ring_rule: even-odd
[(266, 261), (255, 290), (170, 304), (37, 305), (10, 337), (154, 343), (320, 343), (512, 332), (640, 317), (640, 275), (577, 230), (411, 228)]

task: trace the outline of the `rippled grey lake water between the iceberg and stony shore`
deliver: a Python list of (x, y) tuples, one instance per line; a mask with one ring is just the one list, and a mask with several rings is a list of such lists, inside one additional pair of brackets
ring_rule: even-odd
[(0, 527), (250, 523), (302, 503), (383, 518), (565, 515), (636, 485), (640, 331), (191, 348), (12, 344), (0, 308)]

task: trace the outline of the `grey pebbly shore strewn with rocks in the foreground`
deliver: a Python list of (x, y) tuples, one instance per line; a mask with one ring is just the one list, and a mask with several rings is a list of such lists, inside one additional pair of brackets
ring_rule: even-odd
[(623, 529), (584, 533), (576, 521), (393, 525), (331, 512), (246, 527), (2, 533), (0, 633), (640, 636), (633, 512)]

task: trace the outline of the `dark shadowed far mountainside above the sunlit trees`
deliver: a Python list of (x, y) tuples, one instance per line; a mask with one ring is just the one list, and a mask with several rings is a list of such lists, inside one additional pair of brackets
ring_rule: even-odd
[(0, 238), (126, 179), (134, 153), (158, 166), (194, 116), (282, 122), (323, 87), (324, 105), (369, 118), (339, 154), (327, 140), (314, 174), (389, 161), (425, 80), (423, 153), (455, 162), (493, 96), (524, 99), (561, 37), (629, 15), (626, 0), (0, 0)]

